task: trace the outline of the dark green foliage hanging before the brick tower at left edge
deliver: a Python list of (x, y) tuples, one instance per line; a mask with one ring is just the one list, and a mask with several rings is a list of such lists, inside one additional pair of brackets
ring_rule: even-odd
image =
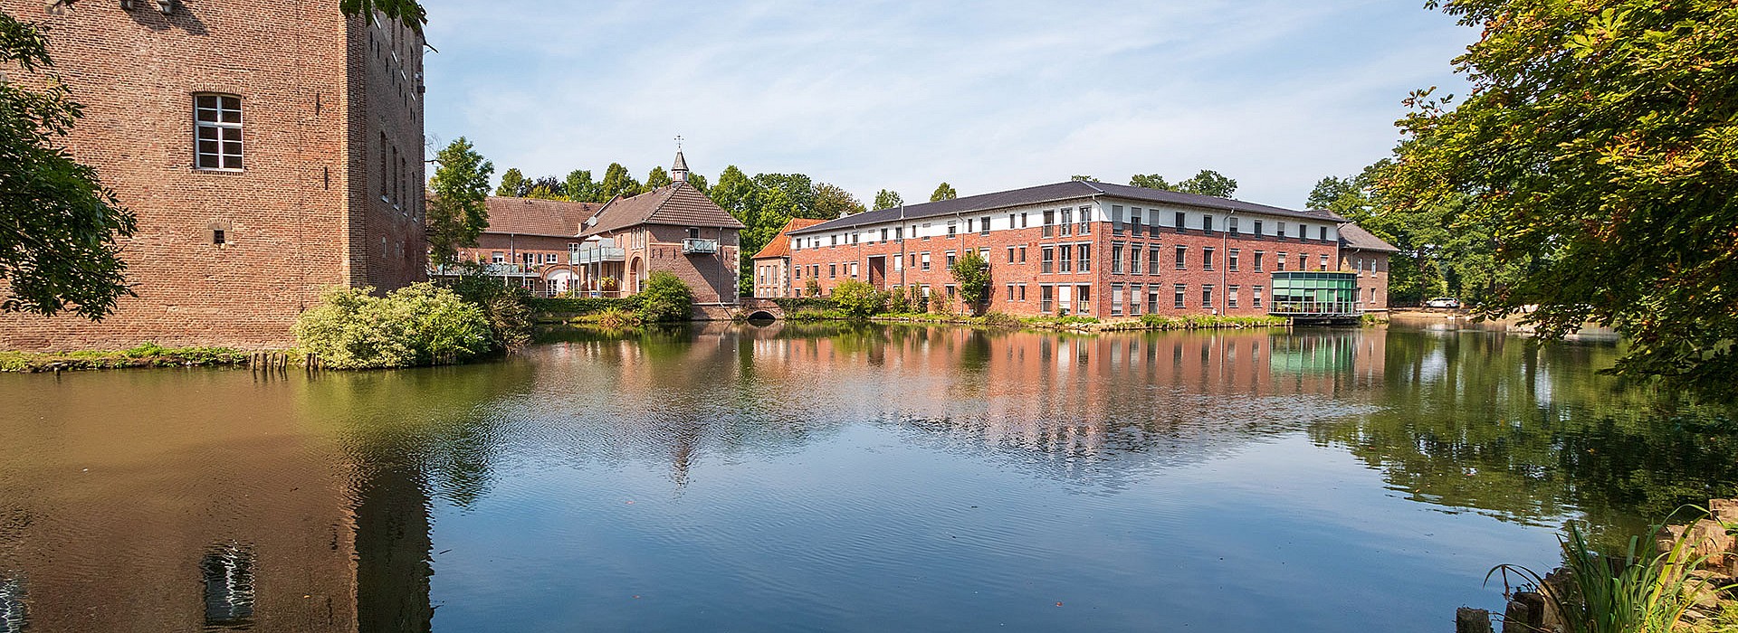
[(83, 106), (49, 71), (42, 28), (0, 12), (0, 66), (31, 76), (40, 90), (0, 78), (0, 312), (73, 312), (101, 321), (127, 288), (116, 239), (136, 220), (97, 172), (61, 147)]

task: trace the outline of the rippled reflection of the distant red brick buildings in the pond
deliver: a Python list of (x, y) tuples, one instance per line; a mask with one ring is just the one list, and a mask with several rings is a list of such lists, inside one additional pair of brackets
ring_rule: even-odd
[[(1383, 376), (1383, 333), (1218, 330), (1091, 336), (773, 324), (577, 336), (542, 371), (610, 394), (535, 394), (645, 439), (683, 482), (707, 453), (886, 423), (1074, 477), (1095, 460), (1197, 461), (1248, 434), (1343, 414)], [(574, 373), (579, 371), (579, 376)], [(535, 414), (535, 413), (527, 413)], [(652, 453), (655, 451), (655, 453)], [(1057, 470), (1060, 468), (1060, 470)], [(1111, 472), (1114, 468), (1104, 468)]]

